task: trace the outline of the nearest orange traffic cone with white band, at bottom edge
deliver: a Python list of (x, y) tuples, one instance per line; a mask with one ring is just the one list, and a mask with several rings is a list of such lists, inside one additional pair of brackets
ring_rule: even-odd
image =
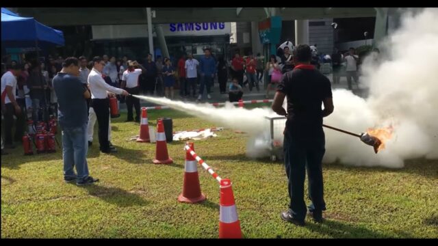
[(242, 238), (231, 180), (220, 180), (219, 238)]

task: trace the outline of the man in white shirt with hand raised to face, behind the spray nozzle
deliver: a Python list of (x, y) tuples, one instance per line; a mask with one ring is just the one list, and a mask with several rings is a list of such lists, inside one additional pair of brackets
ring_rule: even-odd
[[(153, 65), (155, 66), (155, 64)], [(138, 77), (144, 71), (145, 69), (143, 68), (143, 66), (138, 64), (137, 61), (128, 61), (128, 69), (123, 72), (122, 83), (120, 87), (122, 87), (122, 89), (125, 89), (131, 95), (140, 94)], [(132, 106), (134, 106), (134, 108), (136, 109), (136, 122), (140, 122), (140, 99), (131, 95), (126, 97), (126, 106), (128, 109), (127, 122), (133, 121)]]

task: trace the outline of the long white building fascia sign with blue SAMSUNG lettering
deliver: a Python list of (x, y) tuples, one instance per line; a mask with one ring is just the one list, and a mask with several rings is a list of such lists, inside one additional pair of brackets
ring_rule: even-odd
[[(156, 25), (154, 25), (156, 26)], [(231, 35), (231, 23), (170, 23), (162, 25), (164, 36)], [(93, 25), (93, 40), (147, 38), (147, 25)], [(155, 31), (153, 33), (155, 37)]]

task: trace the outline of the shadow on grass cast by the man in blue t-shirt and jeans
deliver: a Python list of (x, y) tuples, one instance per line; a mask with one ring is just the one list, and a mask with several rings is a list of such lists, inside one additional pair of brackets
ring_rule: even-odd
[(136, 193), (130, 193), (116, 187), (103, 187), (98, 184), (90, 184), (79, 187), (86, 189), (89, 195), (121, 207), (146, 206), (150, 203)]

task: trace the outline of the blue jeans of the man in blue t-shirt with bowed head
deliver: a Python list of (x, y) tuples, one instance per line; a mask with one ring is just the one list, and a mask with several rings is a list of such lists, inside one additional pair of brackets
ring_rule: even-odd
[[(77, 178), (80, 182), (88, 177), (87, 151), (87, 124), (79, 127), (62, 127), (64, 178)], [(74, 166), (77, 175), (73, 171)]]

